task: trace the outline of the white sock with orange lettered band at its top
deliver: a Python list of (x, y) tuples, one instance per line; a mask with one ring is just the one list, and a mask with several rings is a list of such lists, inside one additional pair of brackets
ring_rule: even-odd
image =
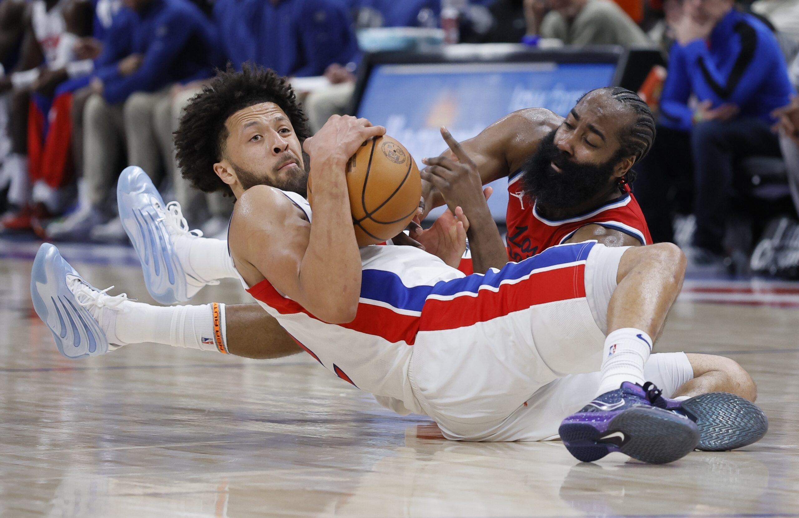
[(114, 319), (109, 340), (138, 344), (154, 342), (228, 353), (225, 337), (225, 305), (155, 306), (125, 301)]

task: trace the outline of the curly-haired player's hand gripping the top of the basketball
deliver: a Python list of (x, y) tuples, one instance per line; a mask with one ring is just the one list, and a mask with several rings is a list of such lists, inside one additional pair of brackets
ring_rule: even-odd
[(316, 135), (305, 139), (303, 149), (312, 161), (328, 158), (348, 161), (365, 141), (385, 133), (383, 126), (372, 126), (365, 118), (333, 115)]

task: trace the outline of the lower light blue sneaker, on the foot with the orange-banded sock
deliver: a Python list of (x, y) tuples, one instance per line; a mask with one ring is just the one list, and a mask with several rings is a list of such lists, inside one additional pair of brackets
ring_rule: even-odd
[(83, 278), (54, 245), (44, 243), (39, 247), (30, 272), (30, 298), (36, 314), (53, 333), (58, 352), (67, 358), (108, 353), (105, 333), (91, 313), (78, 304), (66, 283), (68, 274)]

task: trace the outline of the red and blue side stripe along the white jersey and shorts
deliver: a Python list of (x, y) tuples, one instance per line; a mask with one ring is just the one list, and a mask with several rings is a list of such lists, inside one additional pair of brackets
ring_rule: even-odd
[[(364, 269), (356, 318), (340, 327), (413, 345), (420, 331), (457, 329), (532, 305), (585, 297), (585, 262), (594, 244), (554, 246), (525, 261), (508, 263), (501, 270), (433, 285), (408, 286), (402, 272)], [(451, 269), (443, 264), (442, 268)], [(248, 293), (273, 309), (278, 320), (281, 315), (297, 313), (319, 320), (266, 280), (252, 286)], [(301, 337), (297, 339), (302, 341)]]

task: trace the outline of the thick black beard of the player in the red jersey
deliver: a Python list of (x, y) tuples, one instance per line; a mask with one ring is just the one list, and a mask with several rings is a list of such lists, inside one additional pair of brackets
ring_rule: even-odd
[[(604, 164), (580, 164), (555, 145), (555, 131), (543, 138), (522, 166), (525, 196), (544, 209), (571, 209), (597, 197), (610, 186), (613, 168), (621, 157)], [(555, 162), (560, 172), (552, 168)]]

